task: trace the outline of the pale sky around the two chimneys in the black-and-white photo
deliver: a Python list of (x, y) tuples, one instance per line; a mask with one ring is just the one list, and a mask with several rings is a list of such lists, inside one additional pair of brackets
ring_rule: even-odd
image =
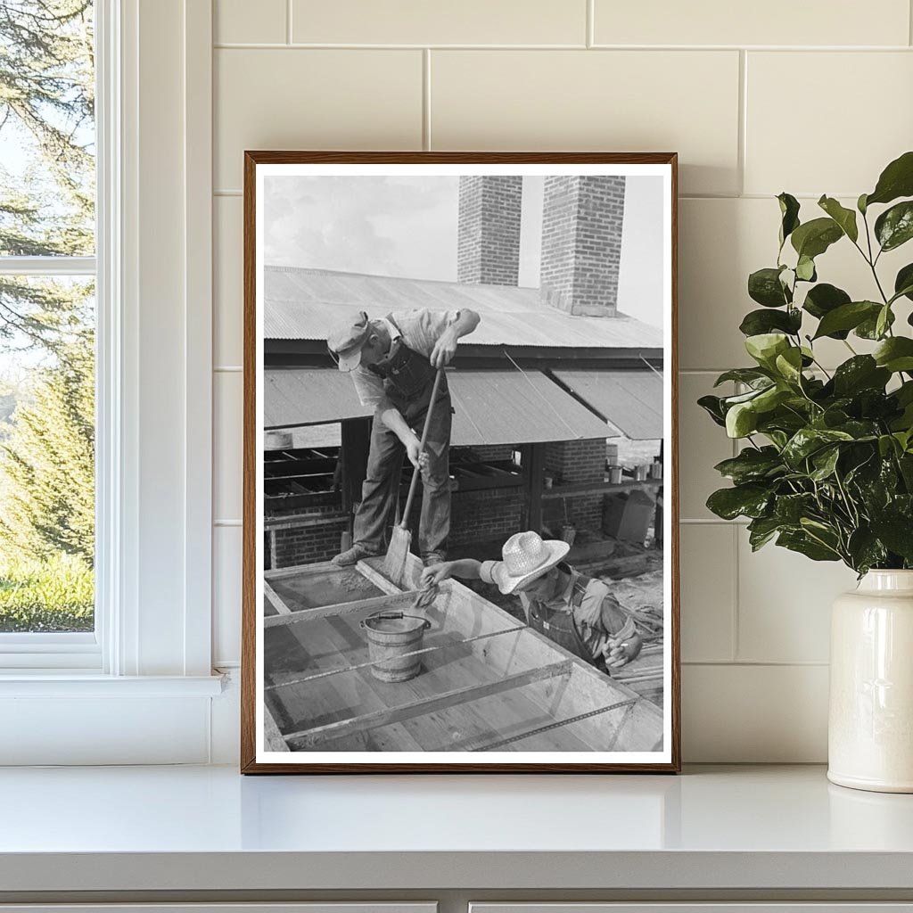
[[(539, 287), (543, 177), (523, 178), (519, 285)], [(456, 281), (457, 177), (270, 176), (264, 262)], [(662, 181), (629, 177), (618, 307), (662, 326)]]

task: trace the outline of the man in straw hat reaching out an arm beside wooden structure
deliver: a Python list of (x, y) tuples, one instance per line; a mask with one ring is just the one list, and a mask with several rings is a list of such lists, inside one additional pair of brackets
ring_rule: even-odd
[(421, 584), (432, 587), (449, 577), (493, 583), (519, 596), (533, 630), (593, 666), (624, 666), (643, 645), (634, 619), (605, 583), (563, 561), (570, 548), (531, 530), (518, 532), (504, 543), (501, 561), (444, 561), (425, 568)]

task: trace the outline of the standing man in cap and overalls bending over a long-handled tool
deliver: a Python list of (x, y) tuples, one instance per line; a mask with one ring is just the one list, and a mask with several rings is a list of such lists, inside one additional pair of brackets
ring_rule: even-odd
[(394, 311), (369, 320), (362, 311), (327, 338), (340, 371), (352, 373), (362, 405), (373, 405), (371, 449), (355, 513), (352, 548), (333, 561), (346, 565), (383, 551), (384, 534), (399, 498), (403, 455), (422, 473), (418, 546), (425, 564), (444, 561), (450, 532), (450, 420), (446, 377), (441, 379), (425, 453), (419, 446), (438, 368), (456, 354), (457, 341), (478, 326), (474, 310)]

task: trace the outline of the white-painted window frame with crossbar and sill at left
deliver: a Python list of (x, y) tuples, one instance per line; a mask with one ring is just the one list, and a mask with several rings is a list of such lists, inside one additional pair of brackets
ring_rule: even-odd
[[(161, 10), (95, 0), (96, 256), (0, 258), (4, 273), (95, 276), (97, 358), (95, 631), (0, 635), (0, 696), (47, 695), (48, 677), (67, 696), (74, 678), (83, 695), (95, 681), (93, 696), (220, 691), (211, 667), (211, 47), (209, 0)], [(169, 244), (180, 282), (165, 288), (159, 248)], [(181, 394), (151, 410), (159, 377)], [(163, 427), (173, 440), (163, 442)], [(173, 550), (156, 549), (156, 536)], [(167, 593), (151, 592), (157, 576)]]

